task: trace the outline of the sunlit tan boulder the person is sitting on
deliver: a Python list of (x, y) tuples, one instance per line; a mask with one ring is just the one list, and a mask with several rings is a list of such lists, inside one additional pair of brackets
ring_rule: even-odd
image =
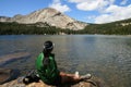
[[(0, 87), (56, 87), (56, 86), (46, 85), (41, 80), (39, 80), (38, 83), (32, 83), (29, 85), (24, 85), (22, 83), (22, 77), (19, 77), (15, 80), (0, 85)], [(106, 86), (103, 82), (99, 82), (99, 79), (93, 78), (93, 79), (80, 82), (80, 83), (73, 84), (73, 85), (62, 85), (60, 87), (108, 87), (108, 86)]]

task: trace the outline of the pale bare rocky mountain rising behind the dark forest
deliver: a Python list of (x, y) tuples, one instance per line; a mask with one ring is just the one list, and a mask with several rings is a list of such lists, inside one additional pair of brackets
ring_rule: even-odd
[(27, 15), (17, 14), (13, 17), (1, 16), (0, 22), (17, 22), (20, 24), (34, 24), (41, 22), (51, 26), (70, 28), (73, 30), (83, 29), (87, 25), (87, 23), (71, 18), (51, 8), (41, 9)]

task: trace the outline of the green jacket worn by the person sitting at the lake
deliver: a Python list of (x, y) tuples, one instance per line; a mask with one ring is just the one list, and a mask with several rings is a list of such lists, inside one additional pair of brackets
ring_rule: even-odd
[(44, 59), (44, 53), (41, 52), (36, 60), (37, 73), (43, 82), (45, 82), (46, 84), (53, 84), (53, 82), (59, 76), (59, 71), (57, 69), (55, 55), (49, 55), (49, 64), (46, 66), (43, 63)]

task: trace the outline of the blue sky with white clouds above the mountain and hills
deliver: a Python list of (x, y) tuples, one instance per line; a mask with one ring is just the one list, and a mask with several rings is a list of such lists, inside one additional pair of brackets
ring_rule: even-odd
[(131, 18), (131, 0), (0, 0), (0, 16), (26, 15), (45, 8), (86, 23)]

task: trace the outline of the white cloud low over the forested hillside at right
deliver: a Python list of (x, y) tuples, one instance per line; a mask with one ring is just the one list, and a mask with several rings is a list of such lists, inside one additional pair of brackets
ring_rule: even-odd
[(95, 23), (108, 23), (131, 17), (131, 4), (127, 7), (110, 5), (105, 13), (95, 17)]

